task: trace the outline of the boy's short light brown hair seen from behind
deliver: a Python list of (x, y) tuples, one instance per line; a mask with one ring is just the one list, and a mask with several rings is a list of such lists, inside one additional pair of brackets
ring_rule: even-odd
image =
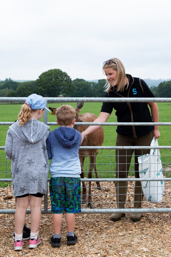
[(71, 105), (62, 105), (55, 111), (59, 125), (71, 125), (75, 119), (75, 109)]

